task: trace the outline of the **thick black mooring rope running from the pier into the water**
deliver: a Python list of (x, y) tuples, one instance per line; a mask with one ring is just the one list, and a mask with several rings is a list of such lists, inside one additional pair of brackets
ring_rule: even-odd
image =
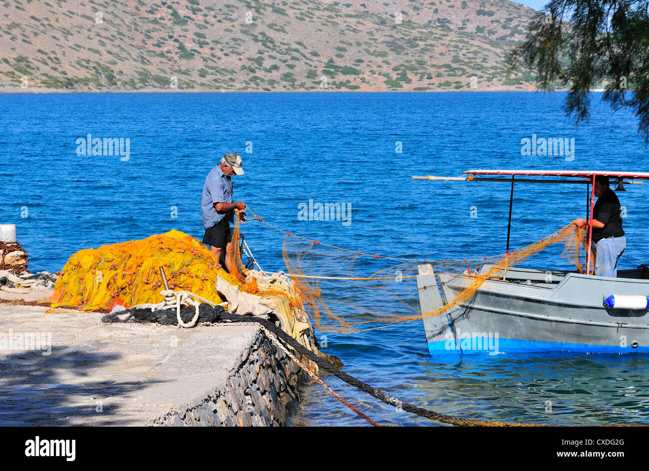
[[(180, 310), (180, 317), (182, 318), (183, 322), (190, 321), (194, 315), (195, 315), (195, 310), (193, 308)], [(122, 316), (126, 316), (126, 317), (121, 319), (120, 317)], [(138, 322), (138, 323), (157, 322), (164, 325), (177, 325), (178, 323), (175, 309), (160, 309), (152, 312), (150, 308), (130, 308), (127, 310), (114, 312), (112, 314), (107, 314), (106, 316), (102, 317), (101, 321), (105, 323), (128, 322), (128, 321)], [(227, 312), (223, 310), (222, 306), (210, 306), (210, 304), (207, 303), (202, 303), (199, 306), (199, 319), (197, 321), (197, 324), (203, 322), (217, 323), (217, 322), (225, 322), (225, 321), (230, 321), (232, 323), (251, 323), (251, 322), (258, 323), (259, 325), (262, 325), (270, 332), (273, 332), (273, 334), (275, 334), (278, 339), (283, 341), (286, 345), (291, 347), (293, 350), (296, 350), (300, 355), (305, 356), (313, 363), (317, 364), (319, 367), (324, 369), (324, 371), (328, 371), (329, 373), (334, 374), (334, 376), (337, 376), (337, 378), (340, 378), (347, 384), (352, 385), (379, 400), (382, 400), (383, 402), (389, 404), (390, 406), (394, 406), (395, 408), (402, 409), (406, 412), (419, 415), (420, 417), (425, 417), (426, 419), (437, 420), (438, 422), (444, 422), (447, 424), (454, 424), (460, 426), (500, 426), (502, 427), (502, 426), (537, 425), (537, 424), (519, 424), (519, 423), (508, 423), (508, 422), (489, 422), (486, 420), (461, 419), (459, 417), (454, 417), (452, 415), (440, 414), (435, 411), (420, 408), (419, 406), (409, 404), (408, 402), (404, 402), (402, 400), (397, 399), (394, 396), (386, 394), (380, 389), (376, 389), (376, 387), (373, 387), (365, 382), (362, 382), (361, 380), (354, 378), (354, 376), (345, 373), (341, 369), (335, 367), (334, 365), (327, 362), (323, 358), (317, 356), (311, 350), (304, 347), (304, 345), (299, 343), (299, 341), (297, 341), (293, 337), (289, 336), (289, 334), (284, 332), (282, 328), (277, 327), (275, 323), (272, 321), (267, 321), (265, 319), (262, 319), (261, 317), (256, 317), (256, 316), (240, 316), (239, 314), (232, 314), (231, 312)]]

